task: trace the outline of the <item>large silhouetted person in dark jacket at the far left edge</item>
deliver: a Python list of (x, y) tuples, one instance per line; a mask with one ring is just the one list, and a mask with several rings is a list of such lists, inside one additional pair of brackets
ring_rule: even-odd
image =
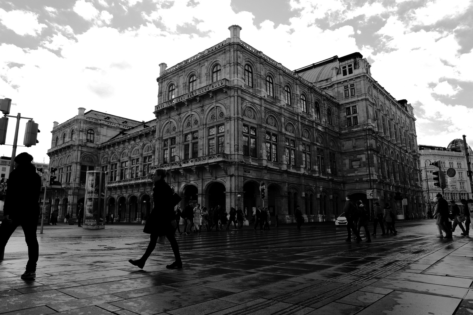
[(0, 226), (0, 260), (3, 259), (5, 246), (19, 225), (25, 233), (28, 245), (28, 263), (21, 279), (36, 277), (36, 262), (39, 247), (36, 238), (36, 227), (39, 216), (39, 195), (41, 178), (31, 162), (33, 156), (24, 152), (15, 158), (15, 169), (10, 173), (7, 195), (3, 205), (3, 221)]

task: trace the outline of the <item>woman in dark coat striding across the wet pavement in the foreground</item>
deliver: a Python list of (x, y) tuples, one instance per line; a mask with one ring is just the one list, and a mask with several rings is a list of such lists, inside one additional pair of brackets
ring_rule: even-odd
[(173, 196), (174, 191), (166, 183), (166, 170), (158, 169), (153, 173), (153, 202), (154, 207), (153, 211), (149, 214), (148, 219), (146, 220), (146, 225), (143, 232), (151, 234), (148, 244), (148, 248), (144, 255), (137, 260), (130, 259), (129, 262), (132, 265), (138, 266), (143, 269), (146, 260), (149, 255), (153, 252), (158, 242), (158, 237), (166, 235), (166, 238), (169, 240), (173, 253), (175, 256), (175, 262), (168, 264), (166, 268), (182, 268), (181, 255), (179, 254), (179, 246), (174, 237), (174, 231), (177, 225), (175, 221), (175, 212), (174, 204), (170, 204), (169, 196)]

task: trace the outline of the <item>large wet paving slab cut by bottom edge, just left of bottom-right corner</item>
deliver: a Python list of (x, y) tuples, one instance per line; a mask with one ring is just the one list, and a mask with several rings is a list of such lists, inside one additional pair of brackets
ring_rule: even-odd
[[(393, 291), (357, 315), (373, 314), (453, 314), (460, 299), (415, 292)], [(432, 307), (435, 305), (435, 307)], [(428, 310), (428, 311), (427, 311)]]

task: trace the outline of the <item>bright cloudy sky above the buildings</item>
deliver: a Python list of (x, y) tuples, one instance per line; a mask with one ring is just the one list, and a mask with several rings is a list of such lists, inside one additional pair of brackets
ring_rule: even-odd
[[(219, 43), (232, 24), (290, 69), (359, 51), (391, 95), (412, 103), (419, 144), (465, 134), (473, 146), (467, 0), (0, 0), (0, 98), (39, 123), (28, 151), (47, 162), (53, 121), (79, 107), (153, 119), (158, 64)], [(8, 144), (14, 126), (10, 118)]]

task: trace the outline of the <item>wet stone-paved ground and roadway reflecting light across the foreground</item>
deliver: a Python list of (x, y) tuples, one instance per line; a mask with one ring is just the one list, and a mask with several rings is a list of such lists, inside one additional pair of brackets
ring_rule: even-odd
[(436, 238), (433, 220), (396, 222), (397, 236), (359, 244), (328, 224), (203, 230), (177, 237), (176, 270), (168, 244), (143, 270), (128, 263), (147, 246), (142, 228), (46, 226), (29, 281), (18, 229), (0, 262), (0, 313), (473, 314), (473, 238)]

